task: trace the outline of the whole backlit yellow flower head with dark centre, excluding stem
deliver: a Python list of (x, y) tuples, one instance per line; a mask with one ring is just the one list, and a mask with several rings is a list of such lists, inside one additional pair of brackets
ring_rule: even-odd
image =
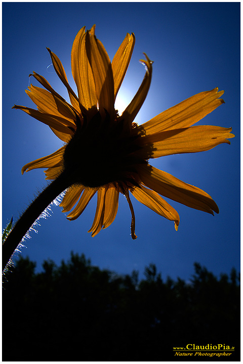
[[(63, 171), (70, 184), (61, 206), (69, 220), (82, 214), (97, 193), (97, 208), (92, 236), (107, 228), (115, 219), (119, 193), (127, 198), (131, 214), (131, 234), (135, 235), (135, 214), (129, 192), (154, 212), (175, 222), (179, 215), (160, 195), (186, 206), (211, 214), (218, 206), (206, 192), (188, 185), (169, 173), (148, 164), (150, 158), (206, 151), (221, 143), (230, 142), (231, 128), (219, 126), (191, 126), (212, 112), (224, 101), (223, 91), (215, 88), (192, 96), (162, 112), (142, 125), (134, 119), (150, 86), (152, 62), (146, 54), (146, 73), (137, 94), (119, 116), (114, 102), (126, 74), (135, 43), (134, 34), (127, 34), (113, 61), (103, 44), (95, 36), (95, 26), (80, 29), (71, 51), (71, 68), (77, 94), (69, 86), (59, 58), (48, 49), (57, 75), (67, 88), (67, 103), (49, 82), (37, 74), (33, 77), (44, 88), (30, 85), (26, 90), (37, 110), (15, 105), (35, 119), (50, 126), (65, 145), (43, 158), (27, 163), (22, 168), (45, 170), (46, 179), (56, 179)], [(74, 207), (74, 205), (76, 206)]]

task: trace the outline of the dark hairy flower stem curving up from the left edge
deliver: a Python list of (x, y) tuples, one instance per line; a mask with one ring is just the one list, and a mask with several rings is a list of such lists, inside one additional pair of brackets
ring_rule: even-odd
[(70, 187), (70, 178), (64, 171), (50, 185), (43, 190), (37, 198), (29, 205), (27, 210), (20, 216), (3, 244), (2, 264), (3, 270), (8, 264), (18, 244), (22, 241), (34, 221), (52, 203), (57, 196)]

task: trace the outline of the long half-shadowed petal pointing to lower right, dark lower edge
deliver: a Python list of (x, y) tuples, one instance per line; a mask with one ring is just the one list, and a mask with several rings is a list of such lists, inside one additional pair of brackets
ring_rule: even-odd
[(142, 183), (162, 196), (168, 197), (185, 206), (214, 214), (219, 208), (212, 197), (197, 187), (191, 186), (173, 175), (150, 165), (138, 168)]

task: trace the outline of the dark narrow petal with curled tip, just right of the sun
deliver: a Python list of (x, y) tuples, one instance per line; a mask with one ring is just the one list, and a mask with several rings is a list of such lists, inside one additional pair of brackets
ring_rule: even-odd
[(151, 82), (153, 62), (150, 61), (150, 59), (145, 53), (144, 55), (146, 57), (146, 61), (140, 60), (140, 62), (143, 63), (146, 67), (146, 74), (144, 76), (143, 82), (141, 83), (141, 86), (139, 87), (137, 94), (134, 96), (131, 103), (128, 105), (128, 107), (124, 110), (123, 114), (121, 115), (121, 117), (128, 120), (130, 124), (132, 124), (141, 106), (143, 105)]

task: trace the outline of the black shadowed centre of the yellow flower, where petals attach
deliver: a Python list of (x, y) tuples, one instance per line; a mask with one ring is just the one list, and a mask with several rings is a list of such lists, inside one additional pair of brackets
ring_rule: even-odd
[(138, 157), (141, 150), (138, 133), (131, 133), (120, 117), (111, 122), (106, 114), (98, 112), (89, 122), (84, 118), (67, 144), (64, 168), (70, 173), (73, 184), (100, 187), (122, 182), (137, 185), (134, 175), (136, 164), (147, 163)]

